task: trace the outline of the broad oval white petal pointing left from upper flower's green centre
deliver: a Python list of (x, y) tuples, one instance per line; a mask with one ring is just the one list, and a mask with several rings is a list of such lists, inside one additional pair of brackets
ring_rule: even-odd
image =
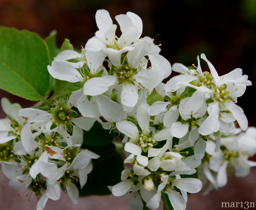
[(114, 85), (116, 77), (106, 75), (103, 77), (93, 77), (88, 79), (83, 85), (83, 93), (89, 96), (97, 96), (108, 91)]

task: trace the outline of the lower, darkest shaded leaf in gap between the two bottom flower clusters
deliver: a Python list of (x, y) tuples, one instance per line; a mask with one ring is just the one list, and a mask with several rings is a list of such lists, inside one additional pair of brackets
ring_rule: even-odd
[(85, 186), (79, 190), (80, 196), (111, 194), (107, 186), (114, 186), (121, 182), (123, 170), (121, 155), (116, 152), (114, 144), (86, 148), (99, 154), (100, 158), (93, 160), (93, 170), (88, 174)]

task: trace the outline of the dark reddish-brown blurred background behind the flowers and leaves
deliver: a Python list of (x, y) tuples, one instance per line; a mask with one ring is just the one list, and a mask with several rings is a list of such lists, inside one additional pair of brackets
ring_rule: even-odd
[[(253, 85), (247, 87), (245, 94), (238, 98), (237, 104), (243, 108), (248, 117), (249, 126), (256, 126), (253, 99), (256, 89), (255, 0), (1, 0), (0, 25), (34, 31), (43, 38), (48, 36), (50, 31), (57, 30), (58, 47), (61, 47), (64, 38), (68, 38), (75, 48), (80, 49), (97, 30), (95, 23), (97, 9), (108, 10), (114, 23), (117, 23), (114, 17), (118, 14), (126, 14), (130, 11), (139, 15), (143, 21), (142, 37), (153, 37), (156, 44), (162, 44), (160, 54), (171, 64), (175, 62), (184, 65), (197, 64), (196, 56), (205, 53), (220, 76), (235, 68), (243, 69), (243, 73), (249, 76)], [(201, 64), (204, 69), (208, 68), (206, 62), (201, 61)], [(175, 75), (176, 73), (173, 72), (171, 76)], [(0, 90), (0, 98), (2, 97), (8, 97), (13, 103), (18, 102), (23, 107), (34, 103)], [(2, 110), (0, 111), (0, 117), (5, 117)], [(207, 197), (192, 195), (191, 199), (194, 199), (194, 203), (189, 200), (187, 209), (221, 209), (220, 202), (256, 203), (255, 175), (256, 170), (252, 169), (250, 179), (233, 177), (229, 180), (229, 187), (223, 188), (224, 191), (223, 189), (215, 191), (215, 194)], [(14, 191), (7, 191), (8, 179), (4, 178), (3, 174), (0, 178), (5, 180), (5, 183), (1, 183), (3, 187), (0, 188), (0, 198), (2, 194), (6, 195), (2, 197), (4, 200), (0, 203), (6, 203), (9, 195)], [(22, 196), (21, 200), (25, 201), (25, 195)], [(16, 197), (13, 198), (14, 203), (16, 203), (15, 199)], [(95, 200), (89, 199), (88, 202), (95, 203), (97, 199), (98, 197)], [(113, 196), (104, 199), (101, 201), (105, 203), (99, 203), (98, 206), (94, 204), (93, 207), (87, 208), (129, 209), (128, 201), (125, 203), (127, 206), (121, 208), (122, 202), (120, 207), (116, 206), (117, 201), (111, 200), (114, 199)], [(33, 205), (28, 204), (28, 207), (24, 206), (21, 209), (35, 209), (34, 202)], [(70, 203), (68, 199), (62, 199), (61, 202)], [(109, 204), (106, 202), (113, 206), (107, 207)], [(54, 203), (57, 204), (58, 201)], [(102, 205), (107, 206), (104, 208)], [(74, 209), (72, 205), (69, 205), (69, 208)], [(5, 209), (16, 210), (20, 207), (6, 203)], [(50, 202), (46, 209), (57, 209), (57, 207), (54, 205), (53, 208), (53, 202)]]

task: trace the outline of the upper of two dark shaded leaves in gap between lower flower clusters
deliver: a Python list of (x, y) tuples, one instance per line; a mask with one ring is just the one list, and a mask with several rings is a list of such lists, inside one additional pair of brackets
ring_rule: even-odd
[(102, 128), (99, 122), (95, 122), (89, 131), (83, 131), (83, 145), (102, 147), (109, 145), (114, 140), (114, 133)]

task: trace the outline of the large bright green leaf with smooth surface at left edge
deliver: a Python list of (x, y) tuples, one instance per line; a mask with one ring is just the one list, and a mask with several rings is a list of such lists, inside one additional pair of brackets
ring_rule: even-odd
[(0, 27), (0, 88), (29, 100), (40, 100), (49, 88), (49, 50), (26, 30)]

